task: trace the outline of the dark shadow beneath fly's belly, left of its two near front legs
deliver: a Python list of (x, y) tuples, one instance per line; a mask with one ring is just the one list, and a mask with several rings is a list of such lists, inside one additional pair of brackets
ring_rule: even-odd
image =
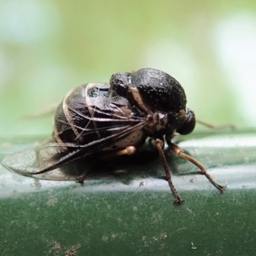
[[(150, 144), (150, 143), (148, 143)], [(118, 179), (124, 184), (148, 177), (163, 177), (163, 166), (153, 145), (144, 145), (131, 156), (107, 157), (93, 154), (82, 157), (60, 168), (67, 176), (84, 175), (84, 182), (90, 179)]]

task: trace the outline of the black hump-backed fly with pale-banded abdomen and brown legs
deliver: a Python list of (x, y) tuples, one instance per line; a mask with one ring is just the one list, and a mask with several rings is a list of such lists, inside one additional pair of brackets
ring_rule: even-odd
[[(23, 175), (56, 170), (84, 157), (131, 155), (154, 140), (166, 180), (175, 195), (175, 204), (184, 200), (172, 182), (164, 156), (164, 142), (179, 157), (195, 164), (221, 193), (218, 184), (204, 166), (172, 143), (176, 133), (189, 134), (195, 128), (195, 113), (186, 108), (186, 94), (180, 83), (160, 70), (142, 68), (135, 72), (118, 72), (109, 84), (89, 83), (67, 93), (55, 111), (52, 138), (35, 156), (22, 154), (24, 163), (33, 158), (36, 168), (17, 164), (13, 158), (3, 160), (8, 169)], [(28, 160), (29, 161), (29, 160)], [(86, 172), (77, 177), (83, 183)]]

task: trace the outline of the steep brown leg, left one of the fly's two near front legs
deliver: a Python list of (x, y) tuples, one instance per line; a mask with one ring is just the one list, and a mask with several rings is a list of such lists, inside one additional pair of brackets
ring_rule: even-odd
[(175, 200), (174, 200), (173, 204), (181, 204), (184, 200), (180, 197), (179, 192), (177, 191), (177, 189), (175, 188), (175, 186), (172, 183), (172, 175), (169, 171), (169, 168), (168, 168), (168, 165), (167, 165), (167, 162), (166, 162), (166, 158), (164, 156), (164, 150), (163, 150), (164, 149), (164, 141), (160, 140), (160, 139), (156, 139), (155, 140), (155, 145), (156, 145), (156, 148), (159, 152), (159, 156), (161, 158), (161, 161), (162, 161), (162, 164), (163, 164), (163, 167), (164, 167), (164, 172), (165, 172), (166, 179), (168, 181), (168, 184), (169, 184), (173, 194), (175, 195)]

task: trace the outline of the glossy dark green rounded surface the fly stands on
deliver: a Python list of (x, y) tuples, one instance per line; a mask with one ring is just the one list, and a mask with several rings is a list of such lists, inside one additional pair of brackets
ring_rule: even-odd
[[(2, 138), (1, 157), (36, 140)], [(113, 160), (109, 172), (88, 175), (84, 186), (0, 166), (1, 255), (255, 255), (255, 131), (195, 132), (177, 140), (214, 179), (228, 182), (223, 195), (168, 150), (182, 205), (172, 204), (152, 148), (129, 164)]]

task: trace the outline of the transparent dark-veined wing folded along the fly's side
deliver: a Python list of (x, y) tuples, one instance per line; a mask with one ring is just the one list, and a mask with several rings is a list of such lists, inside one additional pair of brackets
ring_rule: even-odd
[[(142, 116), (140, 118), (124, 117), (122, 109), (118, 108), (116, 104), (102, 106), (102, 104), (100, 108), (93, 106), (95, 113), (93, 116), (83, 116), (97, 125), (87, 125), (86, 127), (76, 125), (76, 128), (87, 138), (84, 143), (56, 143), (52, 138), (41, 147), (4, 157), (2, 164), (13, 172), (29, 176), (35, 175), (40, 179), (74, 179), (79, 173), (86, 170), (90, 161), (97, 159), (97, 154), (102, 154), (104, 148), (111, 147), (116, 141), (122, 140), (131, 132), (148, 124), (148, 119)], [(113, 114), (110, 116), (110, 113), (113, 113), (113, 108), (115, 116)], [(98, 132), (100, 132), (100, 136), (97, 138), (92, 136)], [(90, 137), (93, 140), (90, 140)], [(83, 159), (83, 165), (74, 163), (76, 159)]]

